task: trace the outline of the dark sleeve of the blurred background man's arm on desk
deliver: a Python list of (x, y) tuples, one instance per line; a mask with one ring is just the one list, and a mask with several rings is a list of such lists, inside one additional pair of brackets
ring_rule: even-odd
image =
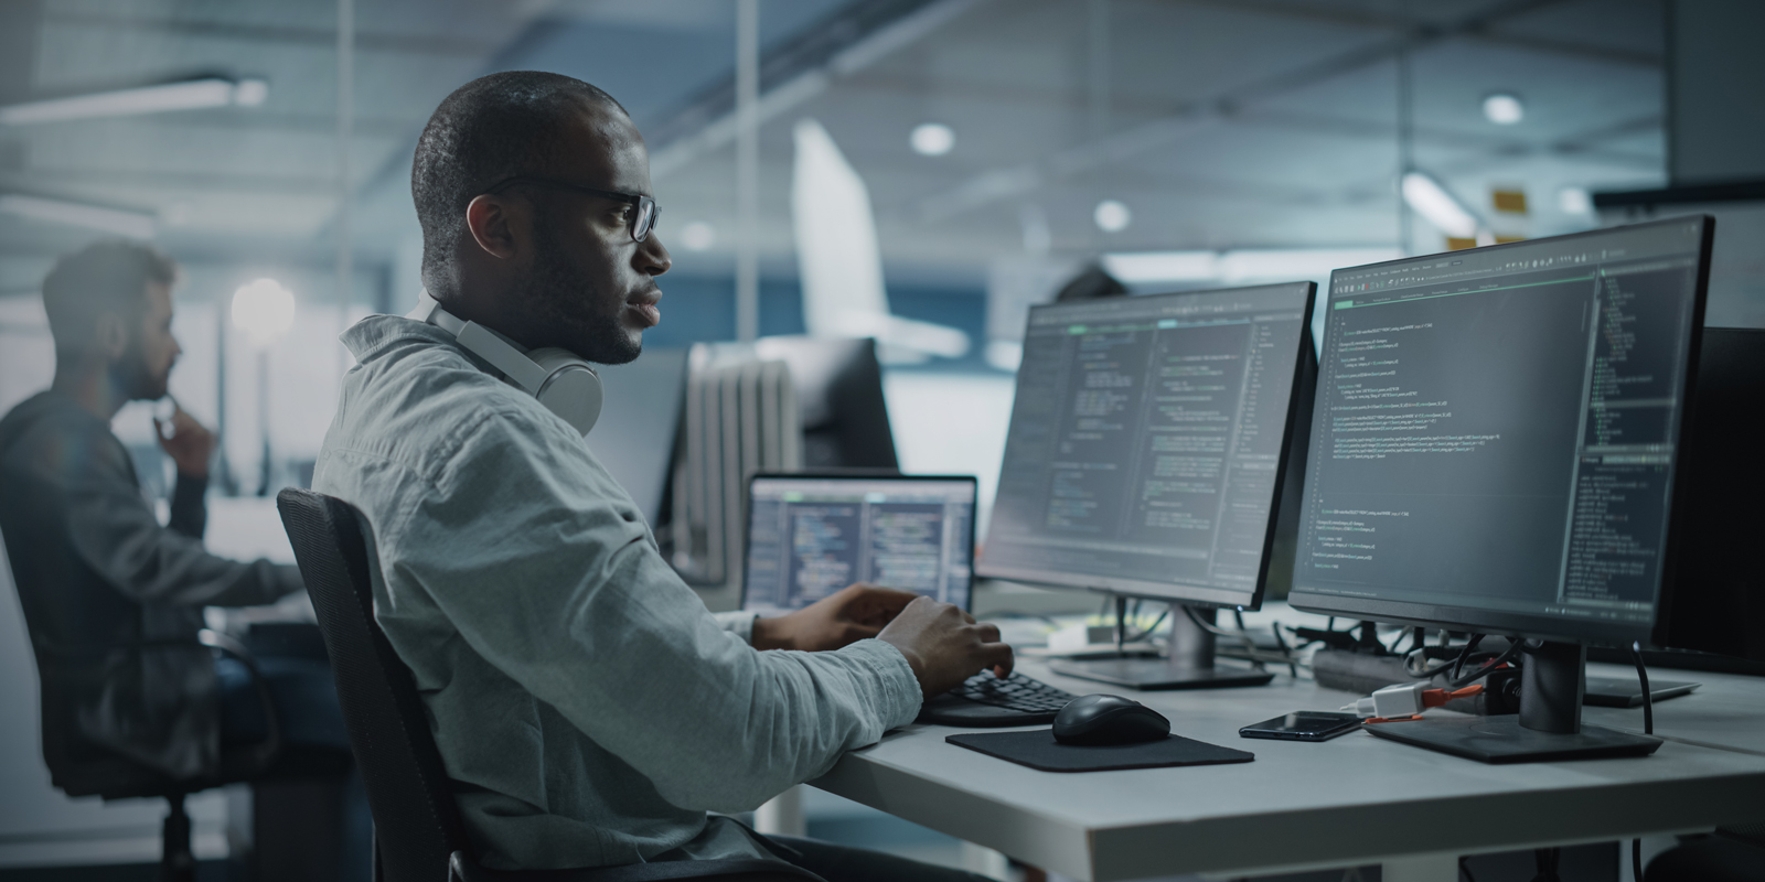
[[(127, 452), (95, 446), (90, 467), (58, 482), (60, 508), (74, 552), (111, 587), (169, 607), (251, 607), (302, 587), (293, 566), (217, 557), (201, 540), (162, 527), (134, 483)], [(182, 482), (178, 489), (185, 490)], [(191, 529), (187, 513), (180, 526)]]

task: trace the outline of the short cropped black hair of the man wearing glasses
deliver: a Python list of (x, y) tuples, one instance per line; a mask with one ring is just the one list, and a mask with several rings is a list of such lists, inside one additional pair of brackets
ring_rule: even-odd
[(424, 226), (424, 279), (447, 266), (466, 233), (466, 205), (492, 183), (533, 171), (556, 146), (560, 122), (582, 101), (625, 113), (612, 95), (563, 74), (507, 71), (441, 101), (417, 138), (411, 199)]

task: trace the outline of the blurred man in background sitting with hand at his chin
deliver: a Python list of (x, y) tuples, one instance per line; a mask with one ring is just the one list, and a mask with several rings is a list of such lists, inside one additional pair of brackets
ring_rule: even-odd
[[(245, 667), (196, 642), (203, 607), (274, 603), (304, 586), (293, 566), (203, 550), (215, 436), (182, 407), (155, 418), (178, 469), (166, 526), (111, 432), (124, 404), (166, 397), (182, 353), (175, 280), (169, 258), (127, 242), (65, 256), (44, 279), (55, 381), (0, 420), (0, 533), (37, 651), (44, 739), (60, 736), (71, 759), (122, 755), (203, 781), (224, 748), (267, 736)], [(328, 663), (258, 662), (286, 744), (349, 748)], [(346, 803), (342, 852), (367, 878), (365, 801)]]

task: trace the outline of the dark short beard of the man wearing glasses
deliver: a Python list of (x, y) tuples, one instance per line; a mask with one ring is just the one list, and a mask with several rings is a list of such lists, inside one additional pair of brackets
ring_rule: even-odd
[[(612, 300), (595, 284), (582, 279), (563, 258), (560, 229), (549, 217), (538, 224), (538, 258), (528, 286), (528, 302), (545, 326), (563, 332), (568, 349), (598, 365), (623, 365), (644, 351), (642, 339), (635, 342), (620, 325), (623, 300)], [(605, 307), (612, 310), (607, 314)]]

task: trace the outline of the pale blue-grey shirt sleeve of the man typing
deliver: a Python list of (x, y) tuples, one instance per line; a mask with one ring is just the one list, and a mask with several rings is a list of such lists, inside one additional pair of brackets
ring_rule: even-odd
[(623, 499), (561, 423), (496, 413), (378, 536), (381, 564), (680, 808), (752, 810), (918, 713), (881, 640), (755, 651), (752, 616), (711, 616)]

